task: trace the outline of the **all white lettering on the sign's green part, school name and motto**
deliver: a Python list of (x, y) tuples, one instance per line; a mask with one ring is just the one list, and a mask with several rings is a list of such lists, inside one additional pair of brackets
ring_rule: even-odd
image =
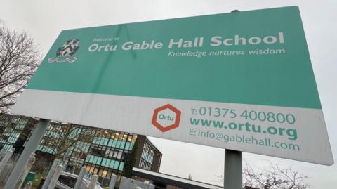
[[(141, 50), (156, 50), (164, 48), (164, 42), (162, 41), (126, 41), (121, 46), (117, 44), (119, 37), (112, 38), (94, 38), (94, 44), (88, 47), (89, 52), (103, 52), (103, 51), (141, 51)], [(275, 35), (268, 35), (263, 37), (242, 37), (239, 34), (235, 34), (232, 37), (221, 37), (213, 36), (210, 38), (205, 37), (194, 37), (194, 39), (169, 39), (167, 47), (169, 52), (167, 53), (168, 57), (197, 57), (201, 58), (204, 56), (258, 56), (258, 55), (276, 55), (276, 54), (285, 54), (285, 48), (251, 48), (249, 50), (235, 49), (235, 50), (221, 50), (221, 51), (186, 51), (186, 49), (191, 48), (202, 48), (205, 45), (211, 47), (227, 46), (227, 47), (236, 47), (236, 46), (246, 46), (246, 45), (258, 45), (258, 44), (284, 44), (284, 32), (278, 32)], [(98, 44), (98, 43), (105, 44)], [(106, 44), (112, 43), (112, 44)], [(178, 49), (180, 51), (171, 51)]]

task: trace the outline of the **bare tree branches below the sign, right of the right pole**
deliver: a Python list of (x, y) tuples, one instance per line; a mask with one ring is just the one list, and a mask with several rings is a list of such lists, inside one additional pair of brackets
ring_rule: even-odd
[(308, 176), (303, 176), (294, 171), (291, 167), (282, 169), (277, 164), (270, 163), (270, 166), (260, 171), (254, 170), (246, 163), (242, 169), (244, 185), (253, 188), (263, 189), (308, 189), (310, 188), (305, 180)]

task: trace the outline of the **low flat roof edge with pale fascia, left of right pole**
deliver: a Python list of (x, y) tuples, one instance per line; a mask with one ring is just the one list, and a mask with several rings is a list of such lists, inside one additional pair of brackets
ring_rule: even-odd
[(152, 181), (158, 181), (161, 183), (166, 183), (169, 185), (176, 185), (181, 188), (195, 188), (195, 189), (204, 189), (204, 188), (211, 188), (211, 189), (222, 189), (222, 186), (218, 185), (211, 185), (209, 183), (201, 183), (198, 181), (189, 180), (187, 178), (181, 178), (178, 176), (173, 176), (169, 174), (161, 174), (158, 172), (147, 171), (144, 169), (139, 169), (133, 167), (132, 169), (133, 176), (140, 176), (142, 178), (147, 178)]

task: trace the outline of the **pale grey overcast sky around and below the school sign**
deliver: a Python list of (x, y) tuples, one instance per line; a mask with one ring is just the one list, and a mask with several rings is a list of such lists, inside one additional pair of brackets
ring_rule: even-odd
[[(123, 0), (123, 1), (13, 1), (0, 2), (0, 20), (15, 30), (27, 31), (39, 44), (43, 55), (61, 30), (125, 22), (161, 20), (192, 15), (228, 13), (234, 9), (248, 11), (279, 6), (299, 6), (310, 57), (322, 102), (333, 157), (337, 157), (337, 66), (336, 66), (336, 15), (337, 3), (322, 1), (211, 1), (211, 0)], [(217, 176), (223, 175), (224, 150), (192, 145), (159, 138), (151, 138), (163, 153), (160, 171), (187, 178), (192, 174), (196, 181), (222, 185)], [(313, 138), (313, 140), (315, 140)], [(337, 187), (337, 165), (296, 162), (244, 153), (244, 159), (253, 167), (265, 167), (269, 162), (282, 167), (293, 167), (310, 176), (311, 188)]]

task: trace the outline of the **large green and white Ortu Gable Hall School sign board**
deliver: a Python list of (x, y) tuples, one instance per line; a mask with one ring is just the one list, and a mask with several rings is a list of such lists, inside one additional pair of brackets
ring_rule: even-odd
[(295, 6), (64, 30), (12, 112), (333, 164)]

